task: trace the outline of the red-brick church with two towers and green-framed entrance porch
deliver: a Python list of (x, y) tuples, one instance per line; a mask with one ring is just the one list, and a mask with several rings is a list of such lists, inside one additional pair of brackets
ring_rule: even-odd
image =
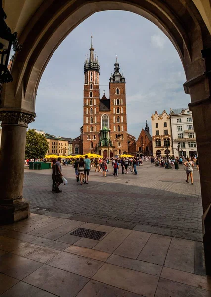
[(100, 65), (91, 42), (90, 57), (84, 63), (82, 153), (113, 157), (128, 152), (125, 78), (116, 59), (109, 82), (109, 99), (105, 92), (100, 99), (99, 76)]

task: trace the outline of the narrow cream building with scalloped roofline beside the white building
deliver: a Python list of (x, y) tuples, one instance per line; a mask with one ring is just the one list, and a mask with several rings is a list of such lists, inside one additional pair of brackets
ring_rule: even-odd
[(165, 110), (161, 114), (155, 111), (151, 116), (153, 156), (173, 155), (170, 115)]

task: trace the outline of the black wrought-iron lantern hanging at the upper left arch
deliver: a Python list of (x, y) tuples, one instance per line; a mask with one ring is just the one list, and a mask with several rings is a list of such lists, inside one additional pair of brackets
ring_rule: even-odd
[(17, 41), (17, 32), (11, 33), (11, 29), (5, 23), (7, 18), (3, 8), (0, 7), (0, 83), (10, 83), (13, 81), (12, 75), (7, 68), (9, 56), (13, 46), (14, 51), (20, 51), (21, 46)]

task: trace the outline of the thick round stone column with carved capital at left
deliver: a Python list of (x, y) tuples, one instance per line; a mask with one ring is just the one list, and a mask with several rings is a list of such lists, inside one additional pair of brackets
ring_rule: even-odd
[(29, 203), (23, 199), (23, 177), (26, 129), (34, 114), (1, 111), (2, 138), (0, 148), (0, 223), (25, 219)]

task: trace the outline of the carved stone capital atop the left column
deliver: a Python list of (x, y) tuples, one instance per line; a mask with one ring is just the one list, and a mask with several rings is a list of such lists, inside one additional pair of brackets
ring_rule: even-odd
[(35, 117), (35, 113), (8, 110), (0, 111), (0, 121), (2, 122), (2, 126), (15, 125), (27, 128), (29, 123), (34, 122)]

